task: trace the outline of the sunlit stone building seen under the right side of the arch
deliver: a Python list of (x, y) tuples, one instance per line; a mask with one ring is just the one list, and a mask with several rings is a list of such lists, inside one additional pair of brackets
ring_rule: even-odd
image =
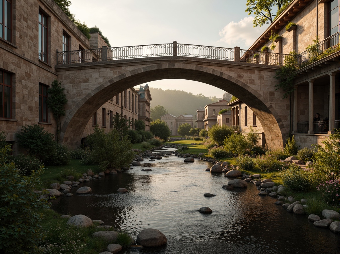
[(261, 139), (259, 140), (259, 144), (265, 147), (265, 133), (254, 112), (239, 99), (229, 102), (228, 105), (231, 107), (231, 126), (234, 130), (245, 135), (253, 129), (254, 132), (260, 135)]

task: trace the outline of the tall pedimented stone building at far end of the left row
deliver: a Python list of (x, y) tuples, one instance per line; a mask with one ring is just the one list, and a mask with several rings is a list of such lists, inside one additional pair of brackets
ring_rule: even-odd
[(140, 85), (138, 92), (138, 118), (145, 123), (145, 130), (150, 131), (150, 101), (152, 100), (149, 85)]

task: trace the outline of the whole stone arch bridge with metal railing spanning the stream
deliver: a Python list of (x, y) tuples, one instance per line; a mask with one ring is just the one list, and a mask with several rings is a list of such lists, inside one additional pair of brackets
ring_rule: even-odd
[[(289, 99), (275, 91), (285, 55), (188, 44), (156, 44), (58, 52), (55, 69), (66, 88), (61, 139), (80, 145), (91, 116), (125, 89), (160, 79), (189, 79), (218, 87), (248, 105), (269, 148), (282, 149), (289, 131)], [(199, 93), (199, 91), (197, 91)]]

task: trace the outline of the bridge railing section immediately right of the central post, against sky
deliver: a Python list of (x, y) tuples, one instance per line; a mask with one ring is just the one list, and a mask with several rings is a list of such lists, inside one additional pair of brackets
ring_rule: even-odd
[(177, 44), (177, 56), (190, 56), (234, 61), (234, 52), (235, 49), (229, 48)]

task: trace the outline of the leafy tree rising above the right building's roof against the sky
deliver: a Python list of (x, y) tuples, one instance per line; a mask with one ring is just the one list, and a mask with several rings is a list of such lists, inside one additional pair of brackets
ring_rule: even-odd
[(248, 15), (255, 15), (253, 20), (254, 27), (262, 26), (264, 24), (271, 24), (275, 19), (275, 14), (273, 13), (273, 7), (281, 10), (285, 6), (288, 6), (288, 0), (247, 0), (246, 10)]

